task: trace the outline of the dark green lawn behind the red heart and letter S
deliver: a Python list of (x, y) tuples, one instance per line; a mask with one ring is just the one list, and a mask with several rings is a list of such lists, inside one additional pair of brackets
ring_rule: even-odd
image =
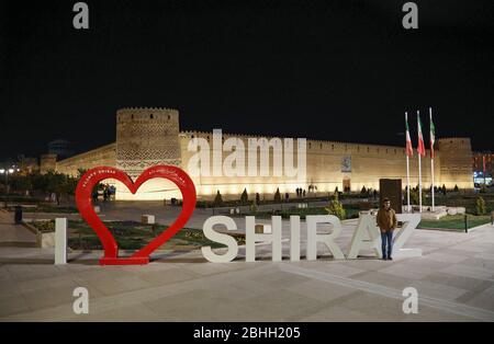
[[(104, 222), (112, 232), (121, 250), (138, 250), (145, 246), (149, 241), (159, 236), (168, 226), (164, 225), (142, 225), (136, 221), (108, 221)], [(55, 222), (36, 221), (33, 222), (41, 231), (53, 231)], [(245, 236), (235, 236), (238, 244), (245, 244)], [(96, 232), (85, 221), (68, 221), (68, 245), (72, 250), (102, 250), (103, 246)], [(204, 237), (202, 230), (182, 228), (177, 234), (168, 240), (160, 249), (192, 251), (203, 245), (210, 245), (213, 249), (224, 245), (212, 242)]]

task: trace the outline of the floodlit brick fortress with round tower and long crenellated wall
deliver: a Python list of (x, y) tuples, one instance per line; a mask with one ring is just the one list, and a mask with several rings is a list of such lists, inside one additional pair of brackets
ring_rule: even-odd
[[(188, 151), (193, 138), (213, 140), (212, 131), (180, 131), (179, 113), (170, 108), (122, 108), (116, 113), (116, 140), (94, 150), (57, 161), (56, 156), (41, 159), (41, 171), (56, 170), (76, 175), (78, 169), (99, 165), (116, 167), (132, 177), (154, 164), (179, 165), (188, 171), (189, 160), (194, 152)], [(235, 137), (248, 147), (251, 135), (223, 134), (223, 139)], [(268, 138), (270, 139), (270, 138)], [(427, 152), (428, 154), (428, 152)], [(223, 153), (223, 159), (228, 152)], [(287, 176), (200, 176), (192, 177), (201, 198), (214, 197), (220, 191), (225, 197), (237, 197), (244, 188), (249, 194), (260, 193), (266, 197), (280, 190), (294, 194), (295, 188), (313, 188), (317, 193), (366, 188), (379, 190), (380, 179), (402, 179), (406, 185), (405, 148), (395, 146), (363, 145), (325, 140), (306, 141), (306, 179), (296, 181)], [(272, 171), (273, 154), (270, 154)], [(247, 161), (246, 161), (247, 163)], [(431, 185), (430, 159), (423, 158), (423, 185)], [(453, 188), (473, 188), (472, 151), (469, 138), (441, 138), (437, 140), (435, 159), (436, 185)], [(113, 183), (113, 181), (110, 181)], [(115, 183), (119, 199), (162, 199), (179, 197), (171, 182), (151, 180), (145, 183), (136, 195)], [(418, 159), (411, 158), (411, 185), (418, 184)]]

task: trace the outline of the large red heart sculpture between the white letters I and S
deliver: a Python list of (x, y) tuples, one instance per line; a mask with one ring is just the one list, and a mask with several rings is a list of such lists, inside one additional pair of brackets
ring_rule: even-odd
[[(166, 229), (161, 234), (156, 237), (146, 246), (135, 252), (130, 257), (119, 257), (119, 245), (110, 230), (104, 226), (103, 221), (98, 217), (91, 203), (93, 187), (105, 179), (114, 179), (125, 184), (128, 190), (135, 194), (144, 182), (162, 177), (173, 182), (182, 193), (183, 205), (182, 211), (175, 222)], [(145, 170), (135, 181), (123, 171), (100, 167), (86, 172), (76, 188), (76, 204), (81, 217), (96, 231), (104, 248), (104, 256), (100, 259), (101, 265), (142, 265), (149, 263), (149, 254), (167, 242), (180, 229), (186, 226), (195, 208), (195, 186), (190, 176), (181, 169), (169, 165), (156, 165)]]

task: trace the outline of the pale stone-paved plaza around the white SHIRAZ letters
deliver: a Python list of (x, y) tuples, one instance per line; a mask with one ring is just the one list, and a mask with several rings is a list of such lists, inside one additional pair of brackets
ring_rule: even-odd
[[(179, 209), (146, 206), (170, 222)], [(158, 213), (159, 210), (159, 213)], [(103, 209), (102, 218), (138, 219), (132, 204)], [(211, 210), (197, 209), (188, 227), (202, 228)], [(54, 217), (56, 215), (29, 215)], [(236, 218), (238, 228), (245, 227)], [(263, 220), (266, 221), (266, 220)], [(267, 222), (267, 221), (266, 221)], [(283, 220), (283, 238), (289, 221)], [(346, 252), (357, 220), (345, 221), (337, 242)], [(324, 228), (323, 228), (324, 230)], [(305, 232), (302, 221), (301, 232)], [(305, 237), (302, 236), (302, 248)], [(201, 252), (158, 251), (146, 266), (99, 266), (101, 252), (72, 252), (55, 266), (50, 249), (0, 211), (1, 321), (493, 321), (494, 227), (470, 233), (416, 230), (406, 246), (419, 259), (335, 261), (324, 248), (317, 261), (206, 262)], [(288, 244), (284, 243), (288, 260)], [(304, 250), (302, 250), (304, 254)], [(76, 287), (89, 290), (89, 314), (72, 311)], [(402, 291), (418, 291), (418, 313), (405, 314)]]

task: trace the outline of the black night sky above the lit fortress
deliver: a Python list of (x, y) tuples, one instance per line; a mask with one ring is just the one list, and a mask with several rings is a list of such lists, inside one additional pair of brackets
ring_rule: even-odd
[[(115, 111), (181, 129), (404, 145), (404, 112), (494, 150), (492, 0), (1, 1), (0, 159), (114, 141)], [(416, 119), (411, 129), (416, 145)], [(428, 135), (426, 136), (428, 139)]]

